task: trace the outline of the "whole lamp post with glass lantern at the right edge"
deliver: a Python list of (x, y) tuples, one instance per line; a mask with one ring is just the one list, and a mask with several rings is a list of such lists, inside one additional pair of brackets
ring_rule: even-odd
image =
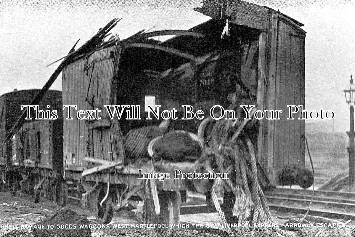
[(355, 85), (353, 83), (353, 76), (350, 75), (350, 84), (345, 88), (346, 103), (350, 106), (350, 131), (349, 136), (349, 191), (354, 191), (355, 180), (355, 152), (354, 152), (354, 104), (355, 104)]

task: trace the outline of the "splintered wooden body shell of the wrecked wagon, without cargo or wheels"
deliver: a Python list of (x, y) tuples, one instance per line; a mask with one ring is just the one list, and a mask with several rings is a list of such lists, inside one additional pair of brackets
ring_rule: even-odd
[[(151, 96), (155, 104), (165, 108), (182, 103), (198, 108), (199, 102), (211, 98), (212, 104), (227, 103), (220, 98), (243, 87), (256, 98), (260, 109), (287, 111), (289, 104), (304, 105), (303, 25), (268, 7), (244, 1), (223, 3), (221, 7), (220, 1), (204, 1), (202, 7), (195, 9), (212, 17), (190, 29), (206, 38), (176, 36), (157, 43), (139, 39), (138, 35), (78, 57), (62, 71), (64, 104), (103, 111), (105, 104), (140, 104), (144, 108), (147, 96)], [(229, 19), (230, 37), (221, 40), (225, 19)], [(157, 45), (180, 53), (164, 52)], [(225, 87), (230, 83), (229, 76), (239, 83)], [(87, 168), (83, 160), (86, 156), (125, 160), (122, 135), (144, 123), (144, 119), (102, 119), (93, 124), (64, 120), (66, 177), (80, 180), (81, 172)], [(251, 133), (258, 161), (272, 185), (278, 184), (285, 167), (305, 168), (304, 120), (286, 120), (286, 116), (259, 120)], [(113, 176), (97, 178), (118, 182)]]

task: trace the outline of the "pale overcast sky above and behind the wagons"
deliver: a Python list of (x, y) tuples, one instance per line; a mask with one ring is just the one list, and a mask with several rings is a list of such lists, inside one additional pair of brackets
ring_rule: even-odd
[[(333, 110), (335, 130), (348, 130), (343, 90), (355, 74), (354, 0), (250, 2), (279, 9), (305, 25), (306, 108)], [(77, 39), (78, 46), (83, 44), (113, 17), (122, 17), (113, 31), (123, 39), (152, 27), (189, 29), (209, 19), (191, 9), (200, 6), (199, 0), (2, 0), (0, 95), (42, 88), (59, 63), (45, 65), (66, 55)], [(61, 77), (51, 88), (61, 90)]]

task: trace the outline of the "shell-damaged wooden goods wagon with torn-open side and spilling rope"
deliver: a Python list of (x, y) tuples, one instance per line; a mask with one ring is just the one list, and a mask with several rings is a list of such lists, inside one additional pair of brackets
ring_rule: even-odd
[[(223, 184), (222, 211), (237, 223), (253, 215), (235, 217), (239, 194), (313, 183), (305, 170), (304, 120), (244, 120), (240, 107), (305, 105), (302, 24), (244, 1), (204, 1), (195, 10), (211, 20), (188, 31), (143, 30), (122, 40), (109, 34), (114, 19), (73, 47), (43, 89), (62, 72), (63, 104), (77, 106), (63, 111), (64, 179), (104, 223), (131, 200), (139, 202), (144, 221), (179, 223), (188, 190), (205, 194), (218, 210), (216, 190)], [(173, 37), (160, 42), (158, 36)], [(234, 118), (210, 117), (216, 105), (215, 117), (228, 109)], [(184, 107), (205, 117), (181, 119)], [(178, 119), (168, 118), (174, 108)], [(79, 109), (99, 109), (100, 119), (94, 113), (66, 119)], [(224, 175), (229, 178), (216, 178)], [(63, 205), (64, 183), (56, 188)], [(171, 235), (167, 227), (157, 230)]]

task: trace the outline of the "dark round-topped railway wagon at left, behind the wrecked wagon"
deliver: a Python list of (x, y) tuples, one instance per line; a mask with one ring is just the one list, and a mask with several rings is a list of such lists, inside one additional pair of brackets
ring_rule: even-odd
[[(15, 90), (0, 97), (2, 140), (23, 113), (21, 106), (30, 104), (39, 91)], [(57, 120), (25, 120), (21, 129), (1, 147), (1, 172), (7, 182), (11, 183), (13, 195), (20, 183), (24, 190), (32, 192), (44, 177), (47, 179), (42, 181), (39, 188), (48, 186), (49, 177), (62, 176), (61, 96), (60, 91), (49, 90), (39, 103), (42, 110), (47, 110), (47, 105), (51, 110), (56, 109), (59, 117)], [(34, 195), (33, 192), (32, 194)], [(43, 190), (45, 197), (48, 194), (48, 190)]]

